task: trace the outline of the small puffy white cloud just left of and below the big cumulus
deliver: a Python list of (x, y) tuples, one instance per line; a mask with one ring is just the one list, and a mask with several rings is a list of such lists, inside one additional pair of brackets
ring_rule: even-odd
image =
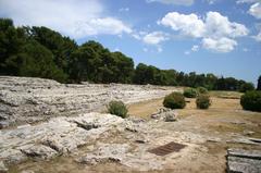
[(144, 36), (142, 40), (149, 45), (159, 45), (160, 42), (167, 40), (167, 35), (162, 32), (153, 32)]

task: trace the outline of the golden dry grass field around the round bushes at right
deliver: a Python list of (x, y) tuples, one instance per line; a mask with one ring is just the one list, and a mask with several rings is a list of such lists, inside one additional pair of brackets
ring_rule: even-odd
[[(195, 99), (186, 99), (186, 108), (177, 110), (179, 119), (196, 116), (191, 118), (192, 121), (196, 121), (195, 123), (200, 124), (202, 128), (209, 132), (225, 134), (252, 131), (254, 132), (252, 137), (261, 137), (261, 113), (244, 111), (239, 99), (236, 99), (236, 97), (241, 96), (240, 92), (211, 91), (210, 95), (212, 104), (208, 110), (199, 110), (196, 108)], [(224, 96), (226, 97), (224, 98)], [(130, 104), (128, 107), (129, 114), (150, 119), (152, 113), (163, 108), (162, 101), (163, 98)], [(190, 125), (192, 126), (192, 124)]]

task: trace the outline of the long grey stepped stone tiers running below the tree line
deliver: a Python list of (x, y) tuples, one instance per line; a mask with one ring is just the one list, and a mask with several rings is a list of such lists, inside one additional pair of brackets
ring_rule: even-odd
[(171, 91), (173, 88), (159, 86), (63, 85), (51, 79), (0, 76), (0, 127), (92, 112), (114, 99), (130, 103), (163, 97)]

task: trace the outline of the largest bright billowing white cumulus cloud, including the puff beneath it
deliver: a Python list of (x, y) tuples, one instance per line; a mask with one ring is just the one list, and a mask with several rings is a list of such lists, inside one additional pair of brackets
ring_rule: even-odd
[(167, 13), (158, 24), (194, 38), (202, 38), (202, 47), (219, 52), (229, 52), (237, 46), (236, 37), (248, 35), (243, 24), (231, 22), (219, 12), (208, 12), (204, 18), (196, 14)]

